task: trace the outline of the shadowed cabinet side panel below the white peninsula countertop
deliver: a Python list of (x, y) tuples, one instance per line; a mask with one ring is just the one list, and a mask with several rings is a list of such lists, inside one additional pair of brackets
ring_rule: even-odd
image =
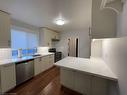
[(86, 73), (63, 68), (60, 69), (61, 84), (83, 95), (108, 95), (110, 80)]

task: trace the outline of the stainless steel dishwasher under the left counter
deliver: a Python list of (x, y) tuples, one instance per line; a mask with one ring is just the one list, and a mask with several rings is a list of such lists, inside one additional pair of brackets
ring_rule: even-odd
[(16, 85), (19, 85), (34, 76), (34, 61), (27, 60), (16, 63)]

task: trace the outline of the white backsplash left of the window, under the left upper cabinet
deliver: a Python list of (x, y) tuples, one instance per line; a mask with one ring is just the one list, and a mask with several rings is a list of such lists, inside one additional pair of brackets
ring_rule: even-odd
[(11, 48), (1, 48), (0, 49), (0, 60), (11, 58), (12, 52)]

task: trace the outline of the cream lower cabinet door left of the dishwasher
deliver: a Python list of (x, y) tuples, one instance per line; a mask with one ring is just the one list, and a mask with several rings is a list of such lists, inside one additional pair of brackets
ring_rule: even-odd
[(16, 86), (15, 64), (1, 67), (1, 90), (6, 92)]

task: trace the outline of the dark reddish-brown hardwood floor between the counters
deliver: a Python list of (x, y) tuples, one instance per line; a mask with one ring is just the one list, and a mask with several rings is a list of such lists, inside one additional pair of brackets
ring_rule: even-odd
[(58, 67), (53, 67), (41, 73), (8, 93), (14, 93), (14, 95), (81, 95), (61, 86)]

